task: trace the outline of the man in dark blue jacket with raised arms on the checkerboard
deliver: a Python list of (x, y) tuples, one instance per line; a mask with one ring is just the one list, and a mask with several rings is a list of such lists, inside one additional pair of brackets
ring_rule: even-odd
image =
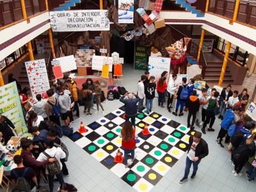
[[(127, 95), (128, 99), (124, 99)], [(134, 97), (136, 98), (134, 98)], [(125, 93), (124, 96), (120, 98), (120, 101), (124, 103), (125, 107), (125, 121), (129, 121), (131, 118), (132, 125), (135, 127), (135, 117), (137, 115), (137, 102), (139, 102), (140, 97), (135, 93)]]

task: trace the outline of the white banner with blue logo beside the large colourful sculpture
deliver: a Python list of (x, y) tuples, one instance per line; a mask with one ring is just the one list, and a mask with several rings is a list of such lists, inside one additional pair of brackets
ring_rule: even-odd
[(156, 79), (159, 79), (164, 70), (169, 73), (170, 63), (171, 58), (148, 57), (148, 72), (150, 72), (150, 76), (155, 76)]

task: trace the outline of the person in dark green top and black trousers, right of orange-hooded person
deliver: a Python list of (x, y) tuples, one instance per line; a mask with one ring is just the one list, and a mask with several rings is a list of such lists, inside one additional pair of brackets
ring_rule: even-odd
[(207, 131), (215, 131), (214, 129), (212, 129), (212, 125), (214, 124), (214, 121), (215, 121), (214, 110), (216, 107), (219, 108), (219, 104), (217, 102), (217, 98), (219, 95), (220, 95), (219, 92), (215, 92), (213, 97), (211, 97), (211, 99), (209, 99), (209, 104), (208, 104), (208, 107), (206, 110), (206, 119), (205, 119), (204, 125), (201, 129), (204, 134), (206, 134), (205, 127), (209, 123), (210, 123), (210, 127), (207, 129)]

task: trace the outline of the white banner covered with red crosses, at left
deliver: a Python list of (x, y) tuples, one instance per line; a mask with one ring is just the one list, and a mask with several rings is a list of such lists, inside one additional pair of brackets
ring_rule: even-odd
[(50, 85), (44, 59), (26, 61), (25, 67), (33, 98), (36, 98), (36, 94), (42, 94), (49, 90)]

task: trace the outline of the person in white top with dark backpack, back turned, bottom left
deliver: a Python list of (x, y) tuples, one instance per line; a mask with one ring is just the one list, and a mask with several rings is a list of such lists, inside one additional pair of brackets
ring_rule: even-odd
[[(54, 147), (54, 140), (47, 139), (45, 140), (45, 151), (42, 152), (39, 157), (36, 159), (37, 161), (45, 161), (49, 158), (54, 157), (56, 159), (54, 164), (48, 164), (45, 169), (45, 173), (48, 177), (49, 182), (49, 188), (50, 191), (53, 191), (54, 187), (54, 176), (56, 175), (57, 179), (59, 180), (60, 184), (64, 183), (63, 175), (61, 172), (62, 169), (62, 163), (60, 159), (65, 159), (66, 154), (63, 152), (63, 150), (60, 147)], [(51, 165), (51, 166), (50, 166)], [(50, 170), (51, 168), (51, 170)], [(54, 170), (53, 170), (54, 169)]]

